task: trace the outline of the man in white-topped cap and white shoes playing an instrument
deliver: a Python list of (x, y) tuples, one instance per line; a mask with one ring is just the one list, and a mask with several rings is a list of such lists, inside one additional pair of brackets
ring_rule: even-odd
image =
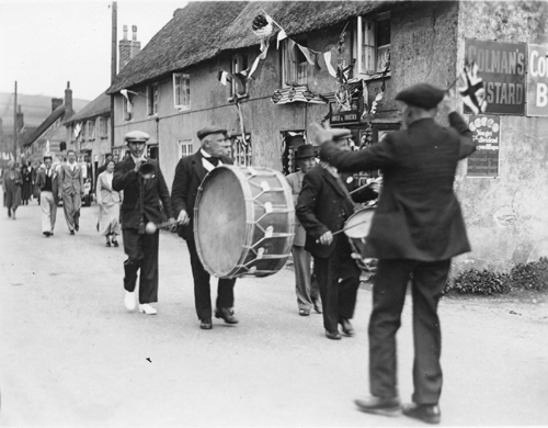
[(147, 159), (144, 156), (145, 146), (149, 138), (148, 134), (140, 131), (126, 134), (124, 139), (130, 156), (114, 167), (112, 187), (117, 192), (124, 191), (122, 236), (124, 251), (127, 255), (127, 260), (124, 261), (124, 289), (126, 290), (124, 303), (128, 311), (135, 309), (135, 285), (140, 269), (139, 312), (155, 315), (157, 309), (150, 303), (158, 302), (160, 235), (158, 230), (153, 234), (146, 234), (145, 224), (148, 222), (162, 223), (162, 207), (173, 227), (175, 219), (160, 166), (158, 161)]

